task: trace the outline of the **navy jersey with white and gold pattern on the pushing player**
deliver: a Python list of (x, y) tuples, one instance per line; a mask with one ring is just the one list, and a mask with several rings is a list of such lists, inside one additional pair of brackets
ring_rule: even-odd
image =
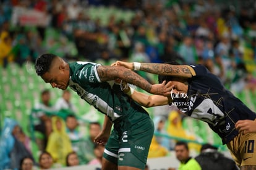
[(222, 138), (224, 145), (238, 134), (235, 129), (237, 121), (254, 120), (256, 114), (226, 90), (220, 79), (204, 66), (191, 67), (195, 70), (195, 75), (189, 80), (187, 98), (174, 98), (173, 102), (186, 103), (177, 107), (187, 116), (207, 122)]

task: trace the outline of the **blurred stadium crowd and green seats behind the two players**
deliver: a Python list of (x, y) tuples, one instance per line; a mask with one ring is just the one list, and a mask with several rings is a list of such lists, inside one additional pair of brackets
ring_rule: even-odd
[[(4, 158), (20, 145), (25, 145), (36, 165), (41, 164), (38, 156), (45, 149), (57, 167), (67, 166), (66, 156), (72, 150), (77, 151), (80, 164), (99, 157), (93, 152), (98, 146), (93, 145), (91, 137), (100, 126), (96, 132), (91, 127), (102, 124), (102, 115), (72, 96), (71, 91), (65, 96), (66, 92), (45, 90), (49, 86), (33, 69), (36, 57), (43, 53), (54, 53), (67, 61), (106, 65), (116, 60), (203, 64), (249, 108), (256, 108), (254, 1), (0, 2), (0, 145), (7, 148), (0, 152), (3, 167), (9, 168), (14, 158)], [(151, 83), (157, 82), (155, 75), (138, 73)], [(207, 125), (182, 116), (175, 108), (148, 111), (156, 126), (150, 158), (168, 155), (177, 138), (194, 140), (189, 146), (197, 151), (200, 143), (221, 145)], [(71, 125), (67, 117), (71, 117)], [(58, 124), (63, 125), (62, 130), (58, 131)], [(51, 145), (58, 137), (66, 142), (66, 148), (70, 147), (69, 153), (53, 151), (60, 147)], [(16, 139), (21, 144), (14, 145)]]

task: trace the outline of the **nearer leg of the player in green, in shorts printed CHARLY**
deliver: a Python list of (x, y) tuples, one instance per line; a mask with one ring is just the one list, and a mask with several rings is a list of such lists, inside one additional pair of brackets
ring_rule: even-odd
[(118, 150), (118, 169), (145, 169), (154, 133), (153, 121), (149, 117), (142, 119), (122, 132)]

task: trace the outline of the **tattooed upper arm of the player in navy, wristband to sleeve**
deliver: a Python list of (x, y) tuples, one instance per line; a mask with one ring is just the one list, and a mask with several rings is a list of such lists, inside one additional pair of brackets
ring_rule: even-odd
[(181, 77), (191, 77), (192, 75), (189, 67), (185, 65), (176, 66), (171, 64), (141, 63), (140, 70), (152, 74), (177, 75)]

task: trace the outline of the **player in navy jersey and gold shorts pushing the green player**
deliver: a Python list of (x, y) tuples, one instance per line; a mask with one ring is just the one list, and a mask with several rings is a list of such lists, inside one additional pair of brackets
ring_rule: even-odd
[(226, 144), (241, 169), (256, 169), (256, 134), (239, 133), (239, 120), (254, 121), (256, 114), (241, 100), (226, 90), (216, 75), (201, 65), (155, 64), (117, 61), (112, 66), (124, 66), (158, 74), (159, 83), (171, 82), (169, 95), (147, 95), (122, 85), (124, 92), (145, 107), (170, 104), (182, 113), (207, 122)]

